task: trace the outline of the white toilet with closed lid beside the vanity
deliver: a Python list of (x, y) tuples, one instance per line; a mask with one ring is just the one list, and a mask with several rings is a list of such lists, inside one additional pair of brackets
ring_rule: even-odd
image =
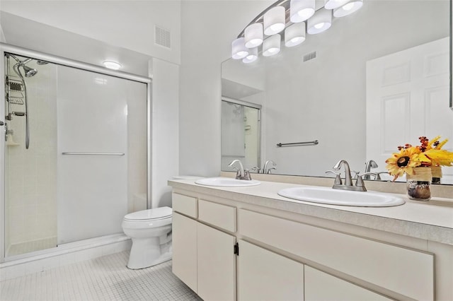
[(170, 207), (160, 207), (127, 214), (122, 230), (132, 239), (127, 267), (147, 268), (171, 259)]

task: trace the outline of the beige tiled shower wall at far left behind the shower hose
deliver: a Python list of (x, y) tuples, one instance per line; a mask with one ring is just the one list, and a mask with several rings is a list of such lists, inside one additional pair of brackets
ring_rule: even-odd
[[(28, 110), (30, 112), (30, 148), (25, 149), (25, 118), (13, 117), (10, 128), (13, 140), (20, 146), (8, 147), (6, 156), (6, 248), (26, 240), (40, 240), (56, 235), (56, 88), (44, 84), (56, 82), (56, 66), (40, 66), (39, 76), (27, 78)], [(23, 105), (13, 111), (23, 112)], [(52, 163), (52, 160), (54, 163)], [(40, 206), (43, 195), (46, 206)], [(48, 200), (53, 198), (54, 200)], [(47, 212), (45, 212), (47, 210)], [(53, 213), (51, 216), (49, 213)]]

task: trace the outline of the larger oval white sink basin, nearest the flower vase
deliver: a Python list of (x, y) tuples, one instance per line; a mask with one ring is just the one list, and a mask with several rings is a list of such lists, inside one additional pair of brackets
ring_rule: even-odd
[(280, 196), (299, 201), (341, 206), (389, 207), (405, 203), (392, 194), (372, 191), (348, 191), (327, 187), (294, 187), (278, 191)]

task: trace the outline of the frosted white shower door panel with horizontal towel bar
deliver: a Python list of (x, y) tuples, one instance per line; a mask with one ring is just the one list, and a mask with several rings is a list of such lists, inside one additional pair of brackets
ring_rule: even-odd
[[(122, 232), (127, 213), (127, 82), (59, 66), (58, 243)], [(125, 155), (63, 155), (63, 153)]]

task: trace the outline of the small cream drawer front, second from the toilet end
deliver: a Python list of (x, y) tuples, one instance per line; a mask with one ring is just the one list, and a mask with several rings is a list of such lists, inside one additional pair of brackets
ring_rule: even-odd
[(198, 219), (229, 232), (236, 232), (235, 207), (200, 199), (198, 200)]

